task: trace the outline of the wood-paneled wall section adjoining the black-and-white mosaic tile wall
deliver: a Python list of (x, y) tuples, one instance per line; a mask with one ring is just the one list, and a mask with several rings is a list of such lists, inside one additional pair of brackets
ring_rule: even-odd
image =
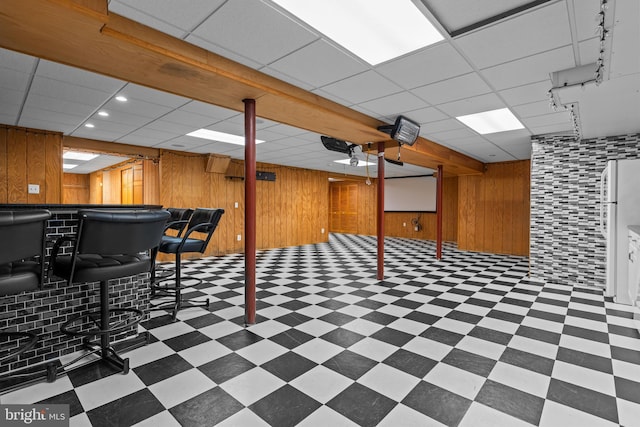
[(529, 254), (530, 169), (529, 160), (490, 163), (458, 178), (458, 248)]

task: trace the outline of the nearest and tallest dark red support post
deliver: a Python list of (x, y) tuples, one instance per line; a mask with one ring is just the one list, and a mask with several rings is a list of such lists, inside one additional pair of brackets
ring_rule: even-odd
[(256, 323), (256, 101), (244, 102), (244, 322)]

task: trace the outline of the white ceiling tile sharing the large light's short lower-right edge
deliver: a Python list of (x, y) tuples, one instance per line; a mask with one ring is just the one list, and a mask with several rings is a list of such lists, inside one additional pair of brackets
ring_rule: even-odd
[(405, 89), (473, 71), (469, 63), (447, 42), (380, 65), (376, 70)]

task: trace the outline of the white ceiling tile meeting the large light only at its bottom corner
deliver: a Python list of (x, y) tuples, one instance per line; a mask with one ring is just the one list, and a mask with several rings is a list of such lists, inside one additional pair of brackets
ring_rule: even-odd
[(382, 77), (375, 71), (367, 71), (357, 76), (349, 77), (322, 88), (323, 91), (346, 99), (351, 104), (363, 102), (391, 95), (402, 88)]

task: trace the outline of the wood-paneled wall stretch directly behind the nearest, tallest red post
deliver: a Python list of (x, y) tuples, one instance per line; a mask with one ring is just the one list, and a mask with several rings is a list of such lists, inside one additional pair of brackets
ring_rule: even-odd
[[(163, 151), (160, 203), (165, 207), (223, 208), (225, 214), (206, 254), (242, 252), (245, 184), (239, 171), (243, 163), (232, 160), (229, 170), (236, 172), (225, 176), (206, 172), (206, 162), (207, 156)], [(328, 174), (263, 163), (257, 164), (257, 170), (275, 173), (276, 180), (256, 183), (256, 246), (267, 249), (327, 241)]]

